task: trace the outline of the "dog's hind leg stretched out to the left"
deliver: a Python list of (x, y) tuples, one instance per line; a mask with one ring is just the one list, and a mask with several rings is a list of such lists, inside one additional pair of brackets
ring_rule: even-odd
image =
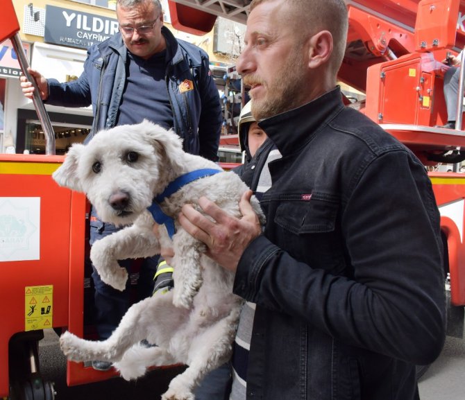
[(152, 297), (142, 300), (129, 308), (121, 319), (119, 326), (107, 340), (92, 341), (78, 338), (70, 332), (65, 332), (60, 337), (60, 347), (69, 360), (88, 361), (105, 360), (115, 362), (124, 355), (127, 349), (135, 343), (145, 339), (147, 332), (140, 319), (148, 306), (153, 301)]

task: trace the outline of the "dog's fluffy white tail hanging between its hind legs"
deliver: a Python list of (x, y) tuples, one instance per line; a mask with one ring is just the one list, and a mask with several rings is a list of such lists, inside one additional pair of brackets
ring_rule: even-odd
[(130, 379), (136, 379), (144, 375), (148, 367), (174, 365), (176, 363), (175, 358), (162, 347), (134, 345), (126, 351), (121, 360), (113, 364), (113, 367), (126, 381), (130, 381)]

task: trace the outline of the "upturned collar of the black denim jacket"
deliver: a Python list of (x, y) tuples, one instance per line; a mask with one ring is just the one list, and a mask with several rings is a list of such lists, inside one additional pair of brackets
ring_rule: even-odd
[(303, 148), (321, 128), (344, 109), (341, 89), (336, 87), (310, 103), (271, 116), (258, 123), (283, 155)]

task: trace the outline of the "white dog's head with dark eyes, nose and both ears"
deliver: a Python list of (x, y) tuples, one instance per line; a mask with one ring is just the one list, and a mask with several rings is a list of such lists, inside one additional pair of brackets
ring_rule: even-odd
[(164, 189), (182, 151), (174, 132), (149, 121), (121, 125), (71, 146), (53, 179), (84, 192), (103, 221), (127, 225)]

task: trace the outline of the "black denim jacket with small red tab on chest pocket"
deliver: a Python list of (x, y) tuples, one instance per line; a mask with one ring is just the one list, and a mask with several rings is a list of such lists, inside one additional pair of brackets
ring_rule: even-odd
[(335, 89), (262, 121), (280, 150), (234, 291), (257, 304), (247, 399), (418, 399), (445, 339), (432, 185)]

